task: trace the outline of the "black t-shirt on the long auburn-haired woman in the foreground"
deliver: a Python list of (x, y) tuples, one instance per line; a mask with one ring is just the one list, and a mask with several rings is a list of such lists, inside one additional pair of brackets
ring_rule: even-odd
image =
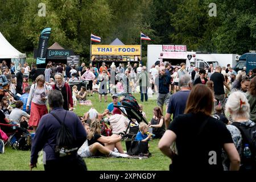
[[(208, 119), (200, 135), (201, 123)], [(231, 134), (224, 123), (202, 113), (181, 114), (171, 122), (168, 130), (173, 131), (176, 138), (177, 153), (179, 160), (177, 168), (182, 170), (223, 170), (222, 147), (225, 143), (233, 143)], [(213, 161), (211, 157), (216, 152), (216, 164), (209, 164)], [(175, 164), (174, 164), (175, 166)]]

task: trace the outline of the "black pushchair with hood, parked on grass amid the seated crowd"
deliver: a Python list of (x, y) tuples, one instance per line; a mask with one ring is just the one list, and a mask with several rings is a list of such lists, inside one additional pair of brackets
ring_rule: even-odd
[[(125, 98), (121, 101), (122, 105), (114, 105), (119, 110), (122, 111), (123, 114), (129, 119), (129, 123), (125, 131), (120, 133), (122, 139), (134, 139), (139, 131), (139, 127), (136, 126), (136, 123), (133, 122), (135, 119), (138, 123), (145, 122), (147, 124), (147, 119), (143, 117), (142, 112), (139, 111), (139, 105), (137, 100), (131, 95), (126, 94)], [(134, 126), (131, 126), (131, 125)]]

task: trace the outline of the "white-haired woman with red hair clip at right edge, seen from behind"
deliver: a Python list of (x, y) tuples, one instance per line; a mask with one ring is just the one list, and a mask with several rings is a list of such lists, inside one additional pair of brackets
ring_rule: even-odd
[[(243, 148), (246, 144), (249, 144), (249, 141), (247, 138), (243, 138), (246, 135), (242, 133), (242, 129), (255, 128), (255, 123), (250, 120), (250, 105), (244, 93), (233, 92), (230, 94), (225, 108), (226, 115), (228, 116), (228, 114), (230, 114), (233, 120), (232, 125), (228, 125), (227, 128), (230, 131), (237, 151), (241, 156), (240, 170), (243, 171), (249, 167), (246, 163), (246, 159), (243, 156)], [(224, 156), (224, 166), (227, 166), (228, 168), (228, 165), (226, 164), (227, 161), (226, 156)]]

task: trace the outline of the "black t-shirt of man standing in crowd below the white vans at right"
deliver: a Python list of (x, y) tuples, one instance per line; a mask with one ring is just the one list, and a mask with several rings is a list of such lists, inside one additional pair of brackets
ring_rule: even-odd
[(221, 73), (214, 72), (212, 76), (210, 76), (210, 80), (213, 81), (214, 94), (216, 95), (225, 94), (224, 84), (223, 84), (223, 82), (225, 81), (225, 78)]

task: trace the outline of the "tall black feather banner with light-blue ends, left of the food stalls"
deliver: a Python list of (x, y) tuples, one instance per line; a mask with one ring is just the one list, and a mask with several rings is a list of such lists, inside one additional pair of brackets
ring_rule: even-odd
[(46, 52), (50, 34), (51, 28), (44, 28), (44, 30), (42, 30), (41, 32), (38, 44), (38, 55), (36, 57), (36, 64), (46, 63)]

